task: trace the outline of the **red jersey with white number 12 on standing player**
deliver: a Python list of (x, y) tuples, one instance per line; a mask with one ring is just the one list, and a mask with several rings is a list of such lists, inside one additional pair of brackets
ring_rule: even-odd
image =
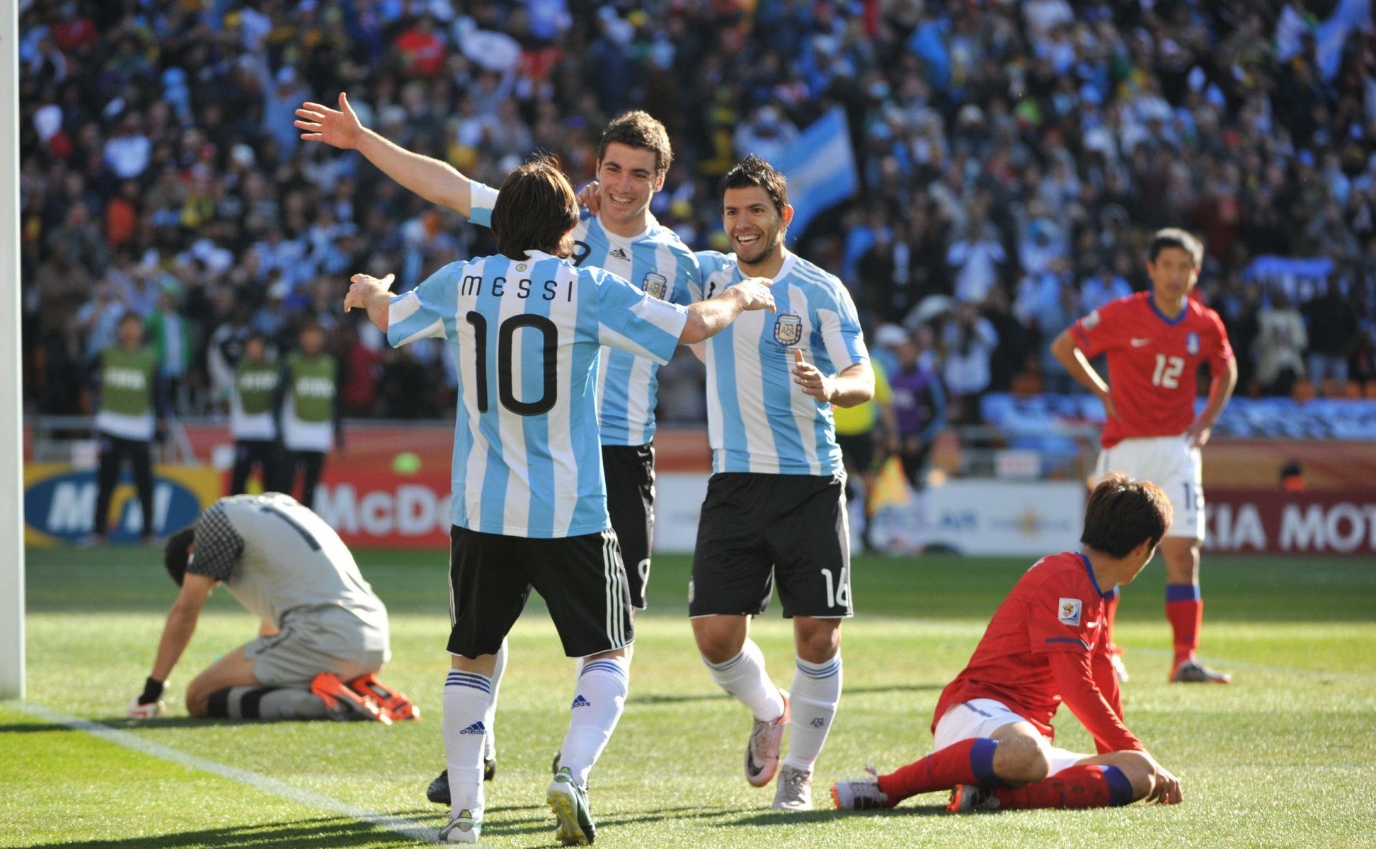
[(1194, 421), (1198, 367), (1218, 376), (1233, 359), (1218, 312), (1194, 299), (1174, 321), (1138, 292), (1090, 312), (1072, 325), (1086, 356), (1108, 354), (1109, 398), (1117, 410), (1104, 427), (1110, 449), (1124, 439), (1175, 436)]

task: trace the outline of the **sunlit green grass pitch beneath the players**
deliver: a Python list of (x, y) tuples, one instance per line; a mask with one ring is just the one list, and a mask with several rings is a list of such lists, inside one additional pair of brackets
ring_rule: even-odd
[[(160, 552), (30, 549), (29, 703), (121, 729), (193, 765), (160, 760), (0, 702), (3, 846), (398, 846), (417, 841), (300, 799), (329, 797), (438, 828), (424, 798), (443, 765), (440, 691), (449, 660), (444, 555), (361, 552), (392, 614), (383, 677), (409, 692), (421, 722), (193, 721), (184, 684), (253, 637), (256, 622), (212, 597), (169, 685), (169, 717), (136, 725), (125, 703), (151, 665), (175, 586)], [(839, 815), (827, 788), (929, 750), (941, 687), (1029, 560), (958, 557), (854, 561), (860, 615), (845, 626), (845, 695), (817, 764), (817, 810), (776, 815), (773, 790), (742, 776), (743, 707), (711, 684), (685, 618), (687, 557), (659, 556), (651, 610), (637, 619), (630, 699), (592, 776), (599, 846), (1370, 846), (1376, 834), (1376, 561), (1204, 559), (1204, 658), (1229, 687), (1165, 683), (1170, 630), (1156, 564), (1127, 589), (1119, 641), (1132, 680), (1128, 725), (1185, 788), (1175, 808), (1028, 810), (948, 816), (943, 794), (892, 812)], [(793, 676), (777, 605), (754, 625), (775, 680)], [(483, 843), (553, 845), (549, 760), (572, 698), (572, 663), (537, 599), (512, 633), (502, 681), (498, 777)], [(1058, 739), (1091, 750), (1066, 711)], [(164, 750), (165, 751), (165, 750)], [(264, 776), (277, 791), (204, 769)], [(201, 766), (195, 766), (200, 764)], [(238, 773), (244, 777), (242, 773)], [(283, 797), (282, 786), (297, 793)]]

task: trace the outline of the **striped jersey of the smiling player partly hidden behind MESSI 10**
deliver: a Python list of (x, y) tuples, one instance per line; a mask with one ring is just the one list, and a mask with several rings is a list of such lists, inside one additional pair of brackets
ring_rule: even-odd
[[(495, 202), (495, 189), (473, 183), (473, 209), (468, 220), (490, 227)], [(692, 303), (691, 286), (702, 279), (694, 252), (654, 216), (644, 233), (626, 238), (607, 231), (597, 217), (583, 211), (574, 227), (571, 259), (581, 268), (611, 271), (671, 304)], [(641, 446), (655, 439), (658, 376), (659, 363), (616, 348), (603, 350), (597, 376), (603, 444)]]

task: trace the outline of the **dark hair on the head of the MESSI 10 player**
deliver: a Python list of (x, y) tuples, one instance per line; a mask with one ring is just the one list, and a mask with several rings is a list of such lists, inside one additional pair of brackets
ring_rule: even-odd
[(570, 256), (578, 224), (578, 198), (555, 157), (541, 154), (506, 175), (493, 205), (497, 250), (523, 260), (530, 250)]

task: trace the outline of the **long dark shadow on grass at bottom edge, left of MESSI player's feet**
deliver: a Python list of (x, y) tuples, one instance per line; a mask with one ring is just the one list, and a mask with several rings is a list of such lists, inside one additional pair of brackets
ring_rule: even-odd
[(319, 846), (325, 849), (329, 846), (414, 846), (416, 841), (358, 820), (319, 817), (286, 823), (261, 823), (256, 826), (226, 826), (223, 828), (179, 831), (150, 837), (105, 841), (83, 839), (80, 843), (70, 841), (29, 843), (23, 849), (70, 849), (76, 845), (87, 849), (176, 849), (182, 846), (217, 846), (219, 849), (249, 849), (257, 846), (312, 849)]

